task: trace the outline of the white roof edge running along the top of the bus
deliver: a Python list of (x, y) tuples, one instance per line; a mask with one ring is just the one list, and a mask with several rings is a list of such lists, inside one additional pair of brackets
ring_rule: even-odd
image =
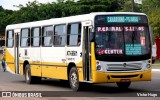
[(46, 25), (53, 25), (53, 24), (83, 22), (83, 21), (93, 20), (96, 15), (118, 15), (118, 14), (146, 15), (144, 13), (136, 13), (136, 12), (93, 12), (90, 14), (75, 15), (75, 16), (62, 17), (62, 18), (51, 18), (51, 19), (41, 20), (41, 21), (12, 24), (12, 25), (8, 25), (6, 27), (6, 30), (46, 26)]

